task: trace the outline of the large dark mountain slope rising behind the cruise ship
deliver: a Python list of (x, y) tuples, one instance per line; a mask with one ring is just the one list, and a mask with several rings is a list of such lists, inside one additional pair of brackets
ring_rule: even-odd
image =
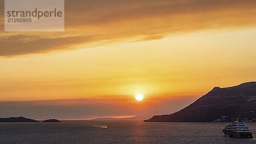
[(144, 122), (230, 122), (236, 118), (256, 121), (256, 82), (214, 87), (180, 111), (155, 115)]

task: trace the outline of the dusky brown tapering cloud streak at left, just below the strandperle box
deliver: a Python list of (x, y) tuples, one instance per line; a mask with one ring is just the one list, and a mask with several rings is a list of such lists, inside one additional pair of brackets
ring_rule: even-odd
[(2, 37), (0, 56), (43, 53), (54, 50), (69, 49), (76, 43), (90, 43), (96, 40), (93, 36), (37, 38), (36, 36), (13, 35)]

